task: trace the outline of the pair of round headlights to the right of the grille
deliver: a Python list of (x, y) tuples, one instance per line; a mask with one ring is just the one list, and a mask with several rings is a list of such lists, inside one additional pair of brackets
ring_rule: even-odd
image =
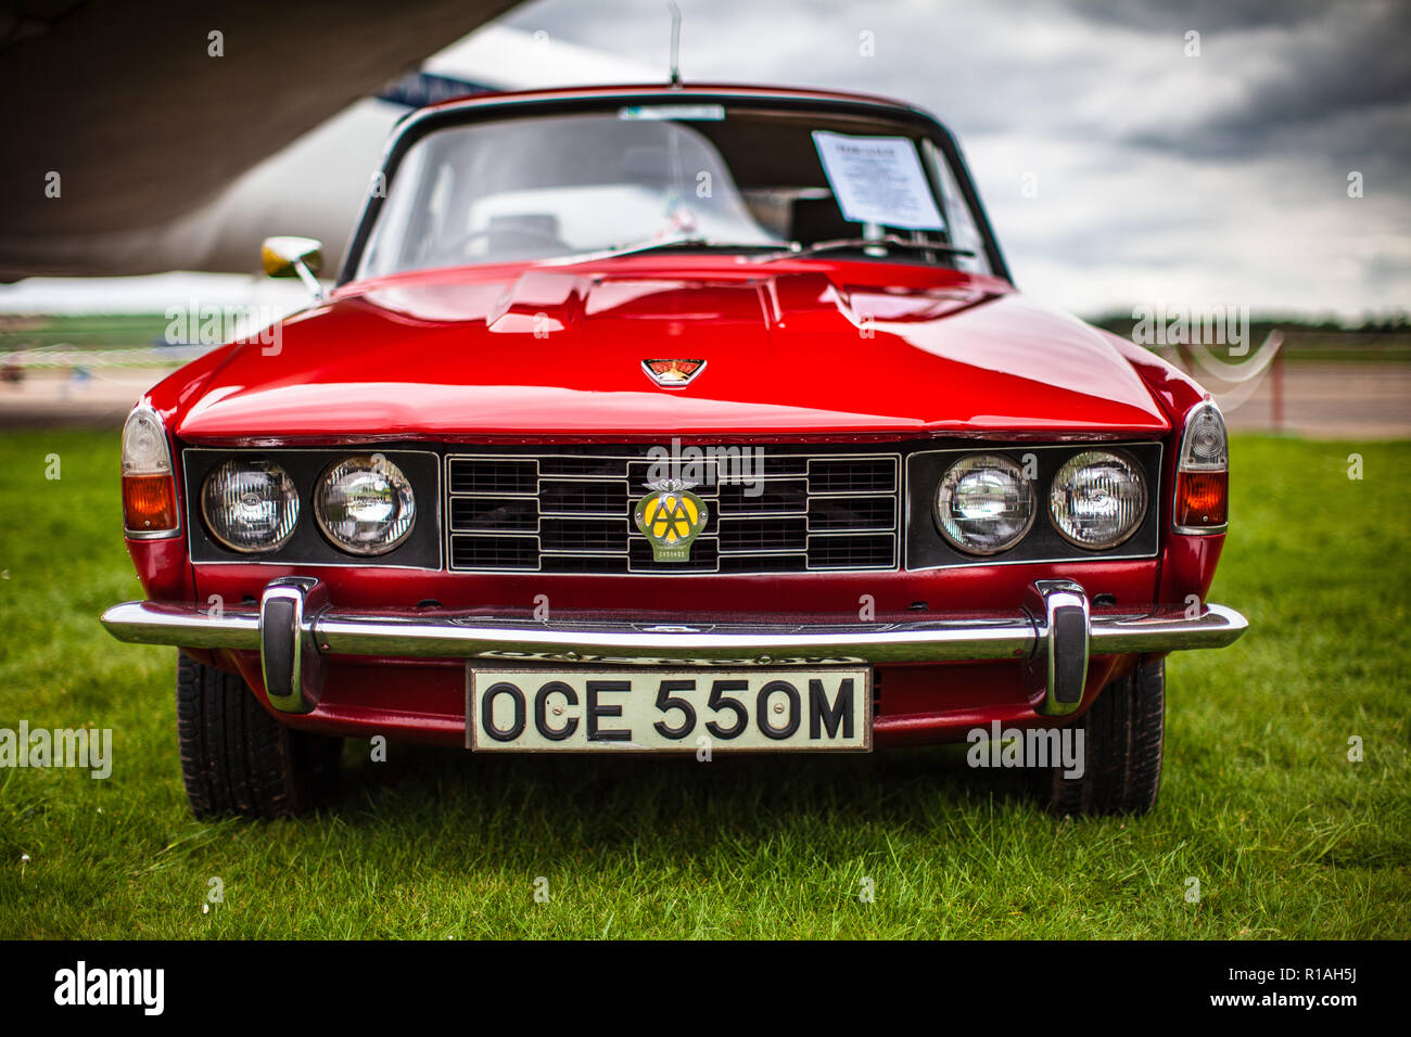
[[(999, 554), (1029, 533), (1038, 514), (1034, 480), (1003, 454), (967, 454), (947, 468), (935, 490), (935, 525), (968, 554)], [(1126, 454), (1074, 454), (1048, 485), (1048, 518), (1070, 543), (1116, 547), (1146, 518), (1141, 468)]]

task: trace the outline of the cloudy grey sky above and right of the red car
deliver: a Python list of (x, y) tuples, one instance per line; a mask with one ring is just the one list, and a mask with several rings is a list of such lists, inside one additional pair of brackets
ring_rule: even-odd
[[(1411, 309), (1408, 3), (680, 6), (687, 80), (882, 93), (937, 114), (1016, 281), (1065, 309)], [(502, 24), (665, 75), (665, 0), (532, 0)]]

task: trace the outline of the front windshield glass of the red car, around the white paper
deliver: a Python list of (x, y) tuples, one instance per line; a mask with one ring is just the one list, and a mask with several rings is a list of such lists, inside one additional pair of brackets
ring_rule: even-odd
[[(910, 159), (924, 169), (913, 185), (921, 196), (913, 200), (944, 213), (924, 229), (849, 220), (820, 159), (820, 134), (886, 140), (893, 148), (900, 141), (926, 155), (930, 141), (914, 127), (827, 113), (715, 110), (714, 117), (676, 119), (650, 117), (650, 106), (639, 106), (426, 133), (391, 175), (357, 275), (686, 240), (739, 248), (880, 234), (950, 241), (955, 216), (947, 196), (958, 199), (959, 192), (943, 186), (948, 169), (934, 147), (923, 162)], [(831, 174), (837, 179), (835, 168)], [(974, 220), (967, 226), (978, 233)], [(892, 258), (954, 261), (944, 254)]]

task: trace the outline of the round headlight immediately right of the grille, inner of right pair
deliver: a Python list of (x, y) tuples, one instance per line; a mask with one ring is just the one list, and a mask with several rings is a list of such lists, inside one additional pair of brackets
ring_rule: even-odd
[(1034, 487), (1003, 454), (955, 461), (935, 490), (935, 525), (971, 554), (1009, 550), (1034, 523)]

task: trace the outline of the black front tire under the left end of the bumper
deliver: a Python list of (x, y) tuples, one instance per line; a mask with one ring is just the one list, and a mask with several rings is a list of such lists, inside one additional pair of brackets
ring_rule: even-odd
[(293, 731), (238, 674), (176, 659), (176, 742), (198, 818), (289, 817), (337, 786), (341, 738)]

